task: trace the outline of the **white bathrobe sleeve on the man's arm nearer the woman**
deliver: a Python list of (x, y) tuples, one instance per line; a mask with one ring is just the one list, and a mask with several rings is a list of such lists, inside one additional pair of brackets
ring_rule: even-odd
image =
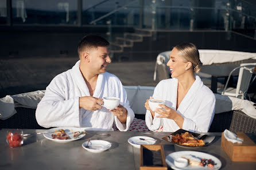
[(126, 90), (118, 78), (117, 78), (117, 82), (118, 82), (118, 88), (116, 88), (116, 90), (119, 90), (120, 104), (122, 106), (124, 106), (127, 110), (127, 119), (126, 119), (126, 123), (122, 124), (118, 120), (118, 117), (115, 116), (114, 121), (115, 121), (115, 124), (117, 125), (117, 128), (119, 129), (119, 131), (128, 131), (128, 129), (130, 128), (131, 122), (134, 119), (134, 112), (130, 108), (129, 100), (127, 100)]

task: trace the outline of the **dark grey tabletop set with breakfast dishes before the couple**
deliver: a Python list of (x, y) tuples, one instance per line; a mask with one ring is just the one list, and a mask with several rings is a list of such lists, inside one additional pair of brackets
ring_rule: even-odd
[[(170, 132), (102, 132), (87, 131), (80, 140), (70, 143), (55, 143), (44, 136), (34, 135), (24, 139), (19, 148), (9, 148), (5, 142), (7, 129), (0, 130), (0, 169), (139, 169), (140, 150), (130, 145), (127, 140), (132, 136), (151, 136), (156, 144), (164, 145), (165, 156), (176, 151), (200, 151), (210, 153), (222, 161), (221, 169), (255, 169), (256, 162), (232, 162), (220, 147), (221, 133), (208, 147), (196, 149), (181, 148), (161, 140)], [(44, 130), (24, 129), (24, 133), (42, 132)], [(103, 134), (105, 133), (105, 134)], [(108, 135), (106, 135), (106, 133)], [(250, 133), (256, 137), (255, 133)], [(91, 153), (83, 149), (82, 144), (88, 139), (109, 141), (112, 147), (101, 153)], [(170, 168), (169, 168), (170, 169)]]

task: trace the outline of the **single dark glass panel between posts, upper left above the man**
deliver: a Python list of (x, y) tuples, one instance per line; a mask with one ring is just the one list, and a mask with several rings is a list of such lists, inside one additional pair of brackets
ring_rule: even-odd
[(32, 25), (76, 25), (77, 1), (12, 0), (12, 22)]

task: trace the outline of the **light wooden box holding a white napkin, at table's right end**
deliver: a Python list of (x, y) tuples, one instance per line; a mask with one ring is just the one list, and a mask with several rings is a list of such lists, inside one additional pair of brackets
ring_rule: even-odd
[(222, 149), (232, 161), (256, 161), (256, 144), (245, 134), (236, 133), (243, 139), (242, 144), (227, 141), (222, 133)]

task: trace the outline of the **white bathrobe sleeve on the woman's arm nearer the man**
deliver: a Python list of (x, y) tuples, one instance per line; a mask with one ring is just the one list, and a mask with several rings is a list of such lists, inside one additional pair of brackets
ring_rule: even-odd
[[(154, 89), (154, 94), (152, 96), (153, 98), (162, 98), (159, 96), (159, 93), (160, 93), (159, 90), (161, 90), (161, 83), (159, 83)], [(162, 119), (159, 117), (156, 117), (157, 115), (159, 114), (155, 113), (154, 119), (153, 119), (151, 112), (149, 110), (146, 110), (145, 121), (150, 131), (156, 131), (160, 128), (160, 126), (162, 126)]]

